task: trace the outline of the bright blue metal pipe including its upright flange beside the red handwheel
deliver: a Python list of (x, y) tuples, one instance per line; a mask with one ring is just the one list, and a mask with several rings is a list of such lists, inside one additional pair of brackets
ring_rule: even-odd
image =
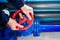
[(40, 32), (60, 32), (60, 25), (41, 25), (37, 20), (34, 21), (34, 36), (40, 36)]

